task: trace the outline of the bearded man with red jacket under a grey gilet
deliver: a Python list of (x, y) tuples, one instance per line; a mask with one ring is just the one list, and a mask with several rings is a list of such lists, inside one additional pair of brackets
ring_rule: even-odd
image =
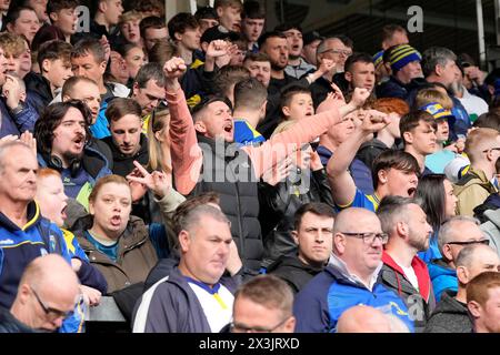
[(379, 282), (404, 300), (416, 331), (421, 332), (436, 300), (427, 265), (417, 253), (429, 247), (432, 227), (418, 201), (408, 197), (384, 197), (377, 215), (389, 235)]

